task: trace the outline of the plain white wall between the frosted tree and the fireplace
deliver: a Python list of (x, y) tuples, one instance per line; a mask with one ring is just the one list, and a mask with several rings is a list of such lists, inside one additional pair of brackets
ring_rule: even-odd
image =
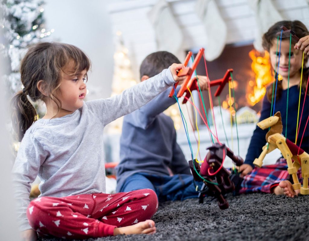
[(107, 0), (45, 0), (46, 29), (57, 41), (74, 44), (90, 57), (87, 100), (108, 98), (111, 94), (113, 44)]

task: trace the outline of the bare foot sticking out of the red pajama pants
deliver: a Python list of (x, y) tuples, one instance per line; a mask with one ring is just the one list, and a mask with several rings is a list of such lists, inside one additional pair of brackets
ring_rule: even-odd
[(146, 220), (131, 226), (115, 228), (114, 236), (120, 234), (154, 234), (155, 230), (155, 222), (152, 220)]

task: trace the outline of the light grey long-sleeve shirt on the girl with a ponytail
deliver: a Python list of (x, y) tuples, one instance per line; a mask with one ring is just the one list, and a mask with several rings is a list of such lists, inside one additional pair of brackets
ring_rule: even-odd
[(26, 210), (30, 183), (37, 175), (40, 196), (105, 193), (103, 128), (173, 83), (171, 71), (165, 69), (120, 95), (84, 102), (82, 108), (61, 118), (36, 121), (26, 131), (13, 167), (20, 231), (31, 228)]

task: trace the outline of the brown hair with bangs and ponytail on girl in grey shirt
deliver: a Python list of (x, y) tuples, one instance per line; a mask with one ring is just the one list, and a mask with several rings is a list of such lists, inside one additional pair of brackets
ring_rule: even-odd
[[(20, 64), (20, 77), (24, 89), (17, 92), (11, 100), (12, 124), (19, 141), (27, 129), (37, 120), (37, 113), (28, 97), (36, 102), (44, 95), (37, 88), (40, 80), (44, 82), (44, 90), (61, 109), (61, 101), (55, 96), (60, 86), (61, 71), (70, 61), (75, 63), (75, 71), (87, 71), (91, 63), (87, 55), (79, 48), (62, 43), (38, 43), (29, 48)], [(86, 76), (87, 77), (87, 76)]]

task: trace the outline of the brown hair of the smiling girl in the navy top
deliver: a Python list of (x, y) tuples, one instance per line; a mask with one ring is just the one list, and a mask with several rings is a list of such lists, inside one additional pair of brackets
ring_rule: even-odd
[[(298, 38), (305, 37), (309, 34), (307, 27), (298, 20), (277, 22), (269, 28), (269, 30), (263, 35), (263, 38), (262, 38), (262, 46), (268, 52), (269, 52), (270, 47), (273, 45), (273, 39), (277, 39), (277, 32), (281, 31), (281, 28), (280, 28), (281, 26), (285, 26), (287, 29), (293, 30), (295, 32), (295, 35)], [(305, 55), (304, 63), (306, 63), (307, 60), (308, 60), (308, 56)], [(274, 71), (275, 71), (275, 77), (277, 78), (276, 70)], [(301, 72), (301, 69), (299, 70), (299, 72)], [(303, 89), (303, 92), (306, 91), (308, 76), (309, 76), (309, 68), (304, 68), (303, 69), (303, 81), (302, 81), (302, 86), (301, 86), (301, 88)], [(278, 81), (276, 98), (281, 97), (281, 92), (282, 92), (282, 81)], [(266, 95), (267, 95), (269, 102), (271, 102), (272, 95), (273, 95), (273, 85), (269, 86), (266, 92)]]

